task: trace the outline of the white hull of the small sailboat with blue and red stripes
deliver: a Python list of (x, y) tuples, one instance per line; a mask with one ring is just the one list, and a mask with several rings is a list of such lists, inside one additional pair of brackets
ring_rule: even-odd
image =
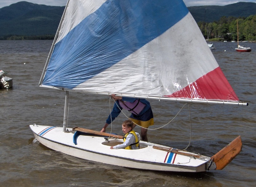
[[(209, 157), (195, 158), (193, 155), (196, 154), (193, 153), (191, 156), (184, 156), (153, 148), (153, 146), (171, 147), (140, 141), (138, 150), (110, 149), (110, 146), (120, 144), (123, 140), (105, 140), (104, 137), (94, 134), (79, 135), (75, 145), (74, 134), (63, 132), (61, 127), (30, 125), (30, 128), (41, 144), (80, 159), (145, 170), (179, 172), (208, 170)], [(72, 131), (71, 128), (68, 130)], [(214, 164), (210, 169), (215, 169)]]

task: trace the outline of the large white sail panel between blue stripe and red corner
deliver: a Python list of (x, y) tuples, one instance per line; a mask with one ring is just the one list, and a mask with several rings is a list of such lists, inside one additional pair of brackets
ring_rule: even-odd
[(189, 13), (164, 34), (74, 89), (171, 95), (219, 66), (201, 35)]

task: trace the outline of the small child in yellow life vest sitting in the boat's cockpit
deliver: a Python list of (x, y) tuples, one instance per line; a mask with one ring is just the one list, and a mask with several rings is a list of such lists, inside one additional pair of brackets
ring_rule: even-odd
[(122, 124), (122, 131), (125, 134), (123, 136), (123, 143), (111, 146), (110, 149), (139, 149), (139, 141), (140, 141), (140, 134), (135, 133), (133, 129), (133, 122), (132, 120), (126, 120)]

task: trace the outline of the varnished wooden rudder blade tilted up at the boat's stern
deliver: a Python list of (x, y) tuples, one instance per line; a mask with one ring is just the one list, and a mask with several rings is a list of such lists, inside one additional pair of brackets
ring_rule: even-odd
[(242, 140), (241, 136), (238, 136), (226, 147), (211, 157), (213, 162), (215, 162), (216, 170), (222, 170), (226, 165), (228, 165), (229, 162), (231, 162), (231, 160), (236, 157), (236, 155), (240, 153), (241, 150)]

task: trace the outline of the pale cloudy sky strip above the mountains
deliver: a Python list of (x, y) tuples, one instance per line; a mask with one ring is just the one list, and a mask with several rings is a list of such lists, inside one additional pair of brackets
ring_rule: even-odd
[[(9, 6), (13, 3), (20, 2), (22, 0), (0, 0), (0, 8)], [(65, 6), (67, 0), (23, 0), (30, 3), (36, 4), (45, 4), (50, 6)], [(202, 5), (220, 5), (224, 6), (227, 4), (233, 4), (238, 2), (253, 2), (256, 3), (256, 0), (184, 0), (184, 3), (187, 7), (190, 6), (202, 6)]]

